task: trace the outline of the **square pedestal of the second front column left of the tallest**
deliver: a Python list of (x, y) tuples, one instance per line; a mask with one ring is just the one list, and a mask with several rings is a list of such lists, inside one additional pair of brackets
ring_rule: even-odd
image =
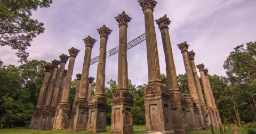
[(94, 96), (89, 103), (87, 132), (106, 132), (107, 101), (104, 96)]

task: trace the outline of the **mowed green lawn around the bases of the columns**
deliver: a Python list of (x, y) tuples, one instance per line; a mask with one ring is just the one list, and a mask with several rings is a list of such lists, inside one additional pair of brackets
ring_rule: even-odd
[[(222, 128), (223, 129), (223, 128)], [(108, 126), (107, 127), (107, 131), (106, 132), (102, 132), (102, 133), (110, 133), (111, 127)], [(235, 130), (237, 130), (237, 128), (232, 128), (230, 130), (228, 130), (228, 128), (226, 127), (226, 131), (228, 133), (233, 133)], [(145, 133), (146, 132), (146, 126), (145, 125), (134, 125), (133, 126), (133, 131), (134, 134), (137, 133)], [(47, 131), (43, 131), (43, 130), (34, 130), (34, 129), (2, 129), (0, 133), (21, 133), (21, 134), (37, 134), (37, 133), (44, 133), (44, 134), (50, 134), (50, 133), (74, 133), (74, 132), (70, 132), (70, 131), (66, 131), (66, 130), (58, 130), (58, 131), (51, 131), (51, 130), (47, 130)], [(77, 134), (79, 133), (87, 133), (87, 132), (75, 132)], [(194, 134), (194, 133), (198, 133), (198, 134), (207, 134), (207, 133), (211, 133), (210, 129), (208, 130), (202, 130), (202, 131), (190, 131), (189, 134)], [(214, 133), (219, 133), (218, 129), (214, 129)], [(223, 129), (223, 133), (224, 133), (224, 129)], [(101, 134), (101, 133), (99, 133)]]

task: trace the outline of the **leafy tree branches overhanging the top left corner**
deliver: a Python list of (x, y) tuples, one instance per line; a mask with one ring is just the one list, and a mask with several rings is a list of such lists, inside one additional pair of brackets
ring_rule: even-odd
[(31, 11), (50, 7), (52, 0), (2, 0), (0, 1), (0, 45), (18, 50), (19, 62), (27, 62), (25, 50), (36, 35), (44, 32), (44, 23), (33, 20)]

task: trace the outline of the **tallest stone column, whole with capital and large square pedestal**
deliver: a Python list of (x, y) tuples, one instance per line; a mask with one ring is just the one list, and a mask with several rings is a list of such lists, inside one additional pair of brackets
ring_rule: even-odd
[(154, 0), (138, 1), (145, 16), (148, 85), (144, 88), (146, 133), (163, 131), (174, 133), (171, 120), (171, 108), (167, 88), (162, 84), (157, 50), (156, 31), (154, 26)]

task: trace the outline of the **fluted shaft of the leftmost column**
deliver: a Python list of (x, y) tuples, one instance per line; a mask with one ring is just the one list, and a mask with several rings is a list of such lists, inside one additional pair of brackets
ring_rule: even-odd
[(46, 92), (46, 86), (47, 86), (47, 82), (49, 80), (49, 77), (50, 77), (50, 72), (45, 72), (44, 80), (43, 80), (43, 83), (42, 83), (42, 87), (41, 87), (41, 90), (40, 90), (40, 94), (39, 94), (39, 97), (38, 97), (36, 108), (43, 107), (44, 97), (45, 97), (45, 92)]

